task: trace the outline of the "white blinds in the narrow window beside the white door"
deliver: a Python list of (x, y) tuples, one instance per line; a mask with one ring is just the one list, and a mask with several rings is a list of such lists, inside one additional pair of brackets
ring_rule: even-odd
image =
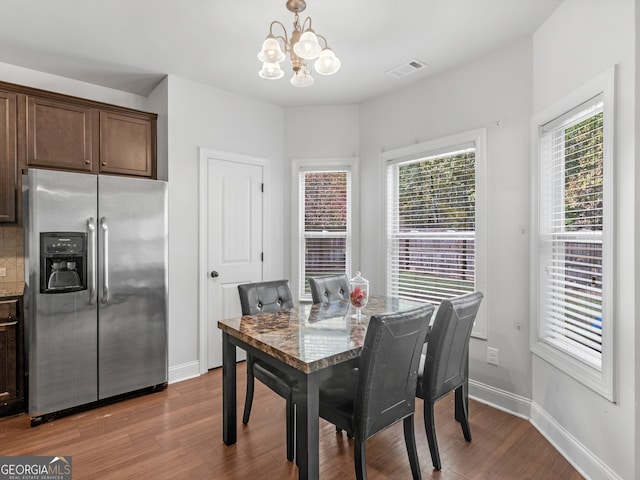
[(310, 296), (309, 277), (347, 272), (351, 172), (309, 171), (301, 172), (299, 178), (304, 226), (300, 285), (302, 296)]

